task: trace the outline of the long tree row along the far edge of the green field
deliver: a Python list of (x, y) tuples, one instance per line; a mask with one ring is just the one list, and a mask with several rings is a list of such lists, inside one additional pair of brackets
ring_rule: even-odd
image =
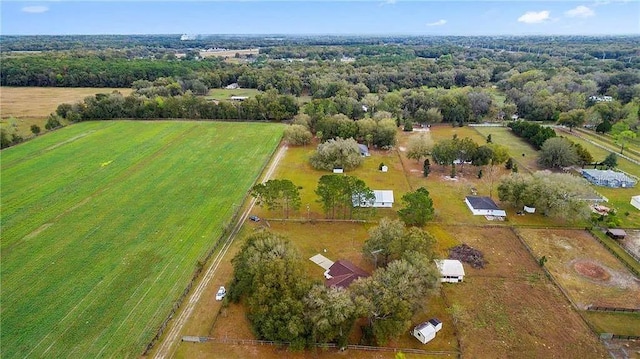
[(61, 104), (56, 113), (72, 122), (98, 119), (190, 118), (239, 121), (282, 121), (298, 113), (291, 96), (275, 91), (258, 94), (245, 101), (232, 103), (207, 101), (190, 91), (184, 95), (148, 98), (137, 94), (123, 96), (115, 91), (96, 94), (75, 104)]

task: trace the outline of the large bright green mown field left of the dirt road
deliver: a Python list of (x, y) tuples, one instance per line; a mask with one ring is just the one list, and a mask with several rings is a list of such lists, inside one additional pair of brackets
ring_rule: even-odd
[(138, 357), (281, 133), (88, 122), (3, 150), (0, 356)]

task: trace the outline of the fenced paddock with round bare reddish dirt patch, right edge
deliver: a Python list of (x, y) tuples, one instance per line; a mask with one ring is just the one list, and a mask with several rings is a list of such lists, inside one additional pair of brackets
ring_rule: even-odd
[(582, 230), (520, 229), (520, 235), (580, 309), (640, 308), (640, 283), (591, 234)]

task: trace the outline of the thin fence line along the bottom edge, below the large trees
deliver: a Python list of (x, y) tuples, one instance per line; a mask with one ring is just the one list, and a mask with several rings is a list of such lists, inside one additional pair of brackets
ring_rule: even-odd
[[(214, 337), (197, 337), (197, 336), (184, 336), (182, 341), (192, 343), (204, 343), (213, 342), (218, 344), (232, 344), (232, 345), (272, 345), (272, 346), (288, 346), (290, 342), (276, 342), (271, 340), (256, 340), (256, 339), (236, 339), (236, 338), (214, 338)], [(338, 348), (335, 343), (315, 343), (315, 347), (318, 348), (332, 348), (332, 349), (352, 349), (363, 351), (377, 351), (377, 352), (403, 352), (409, 354), (421, 354), (421, 355), (446, 355), (446, 356), (459, 356), (459, 351), (447, 351), (447, 350), (423, 350), (415, 348), (392, 348), (392, 347), (374, 347), (368, 345), (347, 345), (343, 348)]]

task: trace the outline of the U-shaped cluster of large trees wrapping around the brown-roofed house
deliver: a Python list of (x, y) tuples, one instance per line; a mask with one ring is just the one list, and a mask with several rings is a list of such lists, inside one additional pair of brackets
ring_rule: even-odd
[(363, 252), (375, 253), (377, 269), (348, 289), (311, 279), (290, 241), (266, 230), (247, 238), (233, 258), (228, 298), (243, 300), (260, 339), (293, 349), (316, 343), (347, 344), (358, 318), (367, 318), (371, 342), (384, 344), (411, 325), (414, 312), (439, 283), (432, 260), (433, 237), (402, 222), (383, 219), (371, 229)]

